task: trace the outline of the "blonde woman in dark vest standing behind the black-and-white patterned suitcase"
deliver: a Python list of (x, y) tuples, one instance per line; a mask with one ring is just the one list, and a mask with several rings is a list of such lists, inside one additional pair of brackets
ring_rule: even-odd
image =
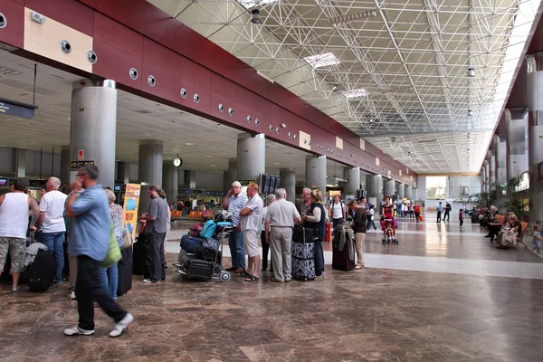
[(324, 273), (324, 252), (322, 240), (326, 235), (326, 210), (322, 205), (322, 194), (319, 190), (311, 191), (310, 212), (302, 216), (303, 226), (313, 229), (313, 240), (315, 242), (315, 276), (322, 278)]

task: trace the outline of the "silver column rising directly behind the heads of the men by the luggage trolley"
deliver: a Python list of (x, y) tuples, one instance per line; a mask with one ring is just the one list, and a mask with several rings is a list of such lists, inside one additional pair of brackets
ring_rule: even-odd
[(266, 173), (266, 138), (263, 133), (254, 137), (249, 133), (238, 135), (236, 173), (238, 180), (260, 183), (261, 174)]

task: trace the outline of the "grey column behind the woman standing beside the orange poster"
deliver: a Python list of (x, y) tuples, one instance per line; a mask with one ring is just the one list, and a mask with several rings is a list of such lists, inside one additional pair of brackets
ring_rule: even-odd
[[(144, 139), (139, 141), (138, 178), (142, 184), (157, 184), (162, 187), (162, 141)], [(147, 213), (151, 199), (147, 195), (147, 186), (141, 186), (139, 212)]]

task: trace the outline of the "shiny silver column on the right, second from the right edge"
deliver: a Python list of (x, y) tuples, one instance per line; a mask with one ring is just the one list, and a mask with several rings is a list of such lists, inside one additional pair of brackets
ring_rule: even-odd
[(528, 111), (525, 109), (505, 110), (507, 126), (507, 179), (528, 171), (526, 155), (526, 129)]

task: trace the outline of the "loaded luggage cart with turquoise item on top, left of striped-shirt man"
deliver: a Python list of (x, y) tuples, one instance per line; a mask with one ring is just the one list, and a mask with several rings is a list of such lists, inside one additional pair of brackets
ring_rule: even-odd
[[(222, 224), (222, 225), (221, 225)], [(219, 223), (214, 233), (215, 240), (218, 242), (214, 252), (210, 252), (205, 246), (196, 247), (195, 253), (189, 253), (181, 249), (177, 262), (173, 263), (176, 267), (176, 274), (186, 281), (188, 277), (218, 279), (220, 281), (230, 281), (232, 276), (230, 272), (225, 271), (221, 264), (223, 255), (223, 243), (229, 240), (230, 233), (233, 231), (232, 223)], [(211, 239), (206, 240), (206, 242)]]

